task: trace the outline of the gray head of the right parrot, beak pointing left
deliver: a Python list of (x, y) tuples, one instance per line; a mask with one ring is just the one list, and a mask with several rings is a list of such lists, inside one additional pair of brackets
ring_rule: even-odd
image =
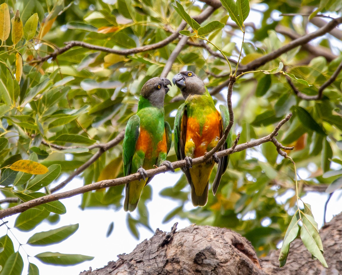
[(181, 71), (172, 78), (172, 82), (181, 90), (184, 99), (189, 95), (206, 92), (202, 79), (192, 71)]

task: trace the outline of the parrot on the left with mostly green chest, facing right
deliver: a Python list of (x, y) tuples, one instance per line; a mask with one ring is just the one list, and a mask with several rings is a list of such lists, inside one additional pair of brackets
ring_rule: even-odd
[(164, 121), (164, 97), (169, 91), (170, 80), (154, 77), (149, 79), (140, 92), (138, 111), (127, 122), (123, 139), (123, 172), (127, 176), (139, 172), (142, 181), (126, 184), (125, 211), (133, 211), (141, 192), (153, 177), (147, 178), (145, 169), (165, 165), (171, 147), (171, 127)]

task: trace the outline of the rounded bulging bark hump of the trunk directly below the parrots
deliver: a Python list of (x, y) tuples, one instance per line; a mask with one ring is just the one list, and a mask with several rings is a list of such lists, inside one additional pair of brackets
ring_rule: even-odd
[(251, 243), (226, 228), (192, 225), (171, 232), (159, 228), (129, 254), (81, 275), (265, 274)]

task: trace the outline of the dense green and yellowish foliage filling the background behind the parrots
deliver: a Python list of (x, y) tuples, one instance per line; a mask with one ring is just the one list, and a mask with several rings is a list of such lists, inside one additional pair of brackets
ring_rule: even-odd
[[(1, 204), (1, 208), (49, 194), (62, 175), (71, 174), (95, 154), (97, 149), (89, 150), (87, 146), (114, 139), (136, 113), (141, 87), (149, 78), (160, 76), (179, 39), (160, 49), (129, 55), (72, 47), (45, 62), (40, 62), (40, 58), (73, 40), (116, 50), (153, 44), (170, 36), (181, 23), (171, 5), (174, 2), (166, 0), (5, 0), (5, 3), (11, 18), (19, 11), (24, 29), (21, 38), (12, 32), (0, 47), (0, 193), (4, 199), (12, 199), (3, 201), (7, 203)], [(208, 6), (199, 1), (181, 1), (181, 4), (190, 16), (200, 14)], [(265, 0), (251, 1), (250, 6), (241, 65), (329, 22), (331, 18), (326, 17), (308, 20), (308, 15), (317, 8), (320, 14), (341, 16), (342, 2)], [(202, 25), (213, 20), (226, 26), (208, 34), (207, 39), (237, 60), (241, 30), (222, 6)], [(335, 28), (332, 35), (311, 42), (313, 51), (299, 46), (258, 69), (277, 68), (282, 62), (287, 72), (311, 85), (293, 82), (300, 92), (316, 95), (342, 61), (341, 39), (342, 30)], [(167, 78), (171, 80), (184, 69), (192, 70), (212, 91), (227, 80), (227, 63), (197, 47), (200, 42), (197, 39), (189, 41)], [(208, 47), (218, 53), (212, 45)], [(329, 191), (333, 192), (342, 186), (341, 84), (340, 73), (320, 100), (310, 101), (299, 98), (284, 75), (246, 74), (234, 86), (233, 138), (237, 132), (241, 132), (239, 143), (263, 137), (292, 112), (293, 117), (281, 128), (277, 139), (283, 145), (295, 146), (288, 154), (297, 164), (301, 196), (308, 191), (324, 192), (331, 183)], [(213, 95), (217, 104), (225, 102), (226, 92), (223, 87)], [(179, 90), (172, 86), (165, 98), (165, 120), (171, 128), (175, 110), (182, 103), (173, 99), (179, 95)], [(58, 150), (49, 143), (78, 148)], [(171, 148), (168, 160), (175, 161)], [(102, 154), (80, 174), (84, 185), (123, 176), (121, 155), (121, 143)], [(38, 176), (4, 168), (19, 159), (36, 160), (49, 167), (49, 176), (37, 179)], [(139, 226), (150, 228), (146, 201), (153, 199), (154, 184), (152, 181), (144, 188), (136, 213), (128, 214), (127, 227), (136, 237)], [(72, 184), (69, 185), (68, 189), (72, 189)], [(159, 196), (179, 202), (175, 209), (165, 208), (165, 222), (179, 217), (200, 225), (231, 228), (249, 239), (259, 256), (264, 256), (276, 248), (290, 223), (296, 202), (293, 188), (292, 163), (280, 157), (272, 143), (266, 143), (231, 155), (217, 195), (214, 197), (209, 192), (208, 204), (203, 208), (190, 207), (190, 188), (184, 176), (172, 186), (165, 186)], [(81, 208), (87, 211), (110, 207), (123, 211), (123, 189), (121, 185), (83, 194)], [(58, 220), (58, 215), (65, 212), (62, 202), (32, 208), (18, 215), (15, 226), (29, 232), (44, 220)], [(59, 230), (63, 240), (77, 228)], [(41, 240), (47, 233), (44, 234), (37, 238)], [(56, 242), (55, 232), (49, 234), (50, 243)], [(0, 253), (2, 267), (6, 262), (7, 266), (20, 267), (21, 256), (11, 246), (11, 239), (6, 235), (0, 240), (5, 249)], [(43, 244), (50, 243), (45, 240)], [(64, 262), (58, 263), (58, 257), (61, 259), (56, 254), (37, 255), (41, 261), (52, 264), (74, 264), (89, 259), (82, 255), (64, 256)], [(33, 270), (30, 274), (37, 274), (33, 273), (36, 267), (30, 265), (30, 268)], [(17, 274), (21, 274), (20, 268)]]

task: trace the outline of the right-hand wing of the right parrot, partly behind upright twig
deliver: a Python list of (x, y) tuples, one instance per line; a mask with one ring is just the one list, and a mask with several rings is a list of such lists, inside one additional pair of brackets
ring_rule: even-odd
[[(221, 117), (222, 117), (222, 124), (223, 124), (223, 131), (227, 128), (229, 124), (229, 112), (226, 106), (220, 105)], [(228, 137), (226, 142), (222, 145), (220, 150), (225, 150), (227, 148), (232, 147), (232, 129), (229, 131)], [(229, 155), (220, 158), (219, 166), (217, 168), (216, 176), (213, 182), (213, 194), (215, 196), (217, 189), (219, 188), (221, 177), (226, 171), (228, 167)]]

